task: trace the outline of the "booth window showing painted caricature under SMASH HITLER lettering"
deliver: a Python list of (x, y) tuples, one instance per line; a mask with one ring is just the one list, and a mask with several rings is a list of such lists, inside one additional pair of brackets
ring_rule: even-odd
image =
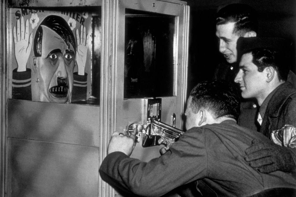
[(99, 105), (101, 7), (10, 12), (11, 97)]

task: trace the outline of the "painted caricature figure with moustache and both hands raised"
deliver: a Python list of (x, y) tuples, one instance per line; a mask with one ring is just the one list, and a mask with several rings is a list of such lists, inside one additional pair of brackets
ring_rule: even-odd
[[(35, 22), (36, 27), (39, 21), (37, 14), (36, 17), (32, 14), (30, 23), (31, 20)], [(34, 28), (33, 23), (31, 24)], [(16, 27), (13, 27), (17, 61), (17, 68), (12, 72), (13, 99), (32, 100), (34, 95), (34, 100), (38, 101), (69, 103), (73, 97), (74, 100), (86, 97), (85, 64), (89, 37), (83, 25), (80, 28), (80, 35), (76, 29), (76, 39), (73, 29), (64, 18), (49, 15), (37, 27), (33, 39), (32, 33), (29, 35), (28, 19), (25, 22), (24, 17), (17, 20)], [(33, 56), (29, 58), (32, 45)], [(75, 63), (78, 72), (73, 73)], [(31, 64), (32, 76), (27, 64)], [(73, 79), (78, 85), (73, 85)], [(38, 89), (31, 89), (33, 80), (38, 84), (38, 87), (36, 86)], [(82, 87), (81, 84), (85, 85)]]

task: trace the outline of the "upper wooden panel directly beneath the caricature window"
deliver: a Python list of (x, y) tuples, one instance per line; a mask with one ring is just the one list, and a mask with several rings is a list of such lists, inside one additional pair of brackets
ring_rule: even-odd
[(8, 137), (99, 146), (99, 106), (8, 100)]

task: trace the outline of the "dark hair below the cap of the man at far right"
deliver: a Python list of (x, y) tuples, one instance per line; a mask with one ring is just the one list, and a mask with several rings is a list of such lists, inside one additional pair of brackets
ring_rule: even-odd
[(253, 56), (252, 63), (258, 67), (259, 72), (271, 66), (278, 73), (279, 80), (287, 81), (289, 66), (284, 54), (268, 48), (255, 48), (250, 53)]

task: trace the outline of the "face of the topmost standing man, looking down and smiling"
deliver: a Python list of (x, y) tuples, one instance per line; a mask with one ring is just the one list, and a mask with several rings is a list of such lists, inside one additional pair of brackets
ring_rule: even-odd
[(219, 51), (228, 63), (237, 61), (237, 39), (240, 37), (233, 33), (235, 22), (216, 25), (216, 36), (219, 39)]

